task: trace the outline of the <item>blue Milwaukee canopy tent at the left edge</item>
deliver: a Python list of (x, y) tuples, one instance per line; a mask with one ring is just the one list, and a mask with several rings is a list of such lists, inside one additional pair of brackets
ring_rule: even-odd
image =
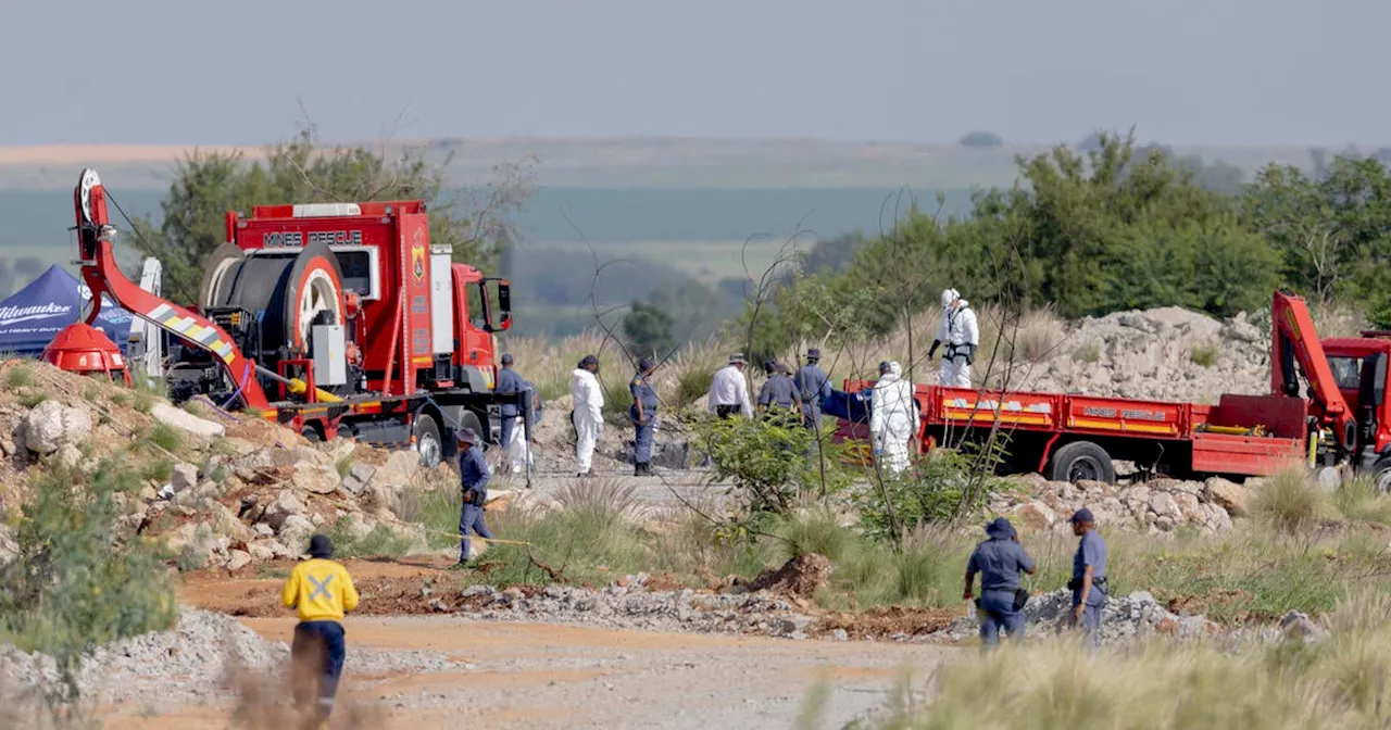
[[(0, 353), (38, 357), (64, 327), (79, 321), (92, 293), (54, 264), (28, 286), (0, 302)], [(102, 298), (102, 314), (93, 323), (125, 352), (135, 317)]]

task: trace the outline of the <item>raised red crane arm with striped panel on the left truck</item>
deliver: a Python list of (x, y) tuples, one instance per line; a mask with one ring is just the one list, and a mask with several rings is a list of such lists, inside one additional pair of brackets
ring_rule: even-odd
[(106, 190), (95, 170), (83, 170), (82, 179), (72, 190), (72, 203), (78, 217), (78, 254), (82, 259), (82, 278), (92, 289), (92, 311), (88, 324), (96, 321), (102, 311), (102, 295), (128, 309), (131, 314), (154, 323), (156, 327), (211, 352), (241, 387), (246, 407), (270, 409), (270, 400), (260, 381), (256, 380), (256, 363), (242, 356), (232, 338), (214, 324), (188, 309), (156, 296), (125, 278), (115, 266), (113, 239), (115, 228), (106, 211)]

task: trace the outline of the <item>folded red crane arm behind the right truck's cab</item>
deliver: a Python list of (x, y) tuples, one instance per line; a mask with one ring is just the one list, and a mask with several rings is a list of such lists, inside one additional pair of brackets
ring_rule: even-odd
[[(1338, 381), (1328, 367), (1319, 332), (1303, 298), (1289, 289), (1276, 292), (1270, 306), (1270, 391), (1274, 395), (1299, 398), (1299, 374), (1309, 381), (1313, 400), (1323, 425), (1333, 425), (1345, 449), (1356, 444), (1356, 420), (1338, 389)], [(1296, 370), (1298, 366), (1298, 370)]]

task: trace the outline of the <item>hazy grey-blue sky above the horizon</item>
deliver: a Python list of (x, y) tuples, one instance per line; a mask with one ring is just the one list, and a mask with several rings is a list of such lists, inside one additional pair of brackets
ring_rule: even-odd
[(1385, 0), (7, 3), (0, 145), (1391, 143)]

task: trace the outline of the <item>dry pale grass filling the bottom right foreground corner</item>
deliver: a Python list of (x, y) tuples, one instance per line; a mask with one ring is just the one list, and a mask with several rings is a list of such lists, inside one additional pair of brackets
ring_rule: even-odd
[(924, 729), (1372, 729), (1391, 720), (1391, 601), (1345, 597), (1321, 644), (1238, 647), (1157, 641), (1088, 656), (1052, 638), (904, 679), (868, 724)]

